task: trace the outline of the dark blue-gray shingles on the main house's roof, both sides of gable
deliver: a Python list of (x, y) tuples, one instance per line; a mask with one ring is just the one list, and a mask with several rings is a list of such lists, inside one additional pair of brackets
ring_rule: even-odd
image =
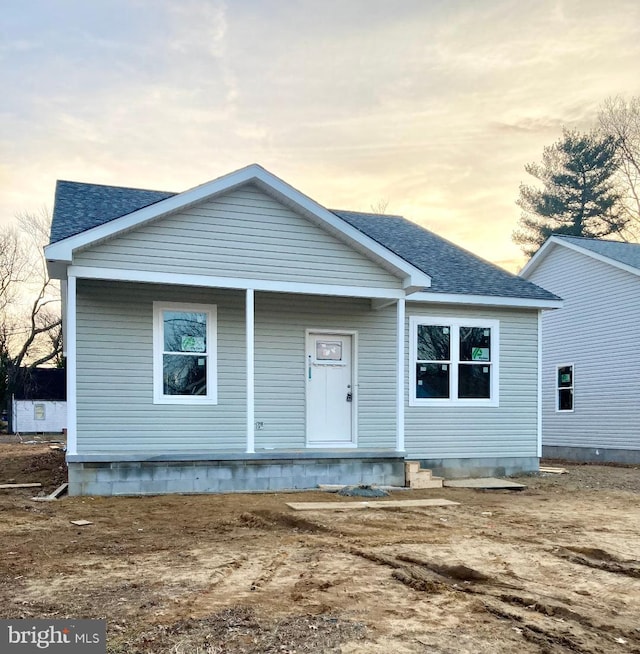
[[(59, 181), (51, 243), (172, 197), (175, 193)], [(333, 213), (427, 273), (432, 293), (557, 300), (557, 296), (512, 275), (401, 216), (354, 211)]]

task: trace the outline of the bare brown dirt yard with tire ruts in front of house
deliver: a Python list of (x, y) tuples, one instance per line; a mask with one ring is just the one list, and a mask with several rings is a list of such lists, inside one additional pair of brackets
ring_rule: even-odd
[[(106, 618), (111, 654), (640, 652), (640, 470), (566, 467), (394, 493), (460, 502), (404, 510), (0, 491), (0, 617)], [(0, 482), (64, 475), (47, 445), (0, 444)]]

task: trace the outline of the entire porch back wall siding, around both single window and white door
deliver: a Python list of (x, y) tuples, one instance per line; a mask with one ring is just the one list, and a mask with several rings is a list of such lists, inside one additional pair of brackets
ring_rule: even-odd
[[(217, 306), (218, 404), (153, 404), (153, 302)], [(78, 452), (244, 451), (245, 295), (78, 282)], [(256, 448), (304, 448), (305, 330), (358, 334), (359, 447), (395, 447), (395, 307), (256, 293)]]

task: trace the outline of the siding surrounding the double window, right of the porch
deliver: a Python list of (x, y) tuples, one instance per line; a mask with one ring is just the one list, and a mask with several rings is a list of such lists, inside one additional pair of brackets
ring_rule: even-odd
[[(407, 455), (425, 459), (535, 457), (538, 443), (537, 311), (407, 303), (407, 316), (486, 318), (498, 320), (500, 329), (499, 406), (407, 405)], [(406, 328), (408, 353), (408, 324)], [(408, 397), (408, 380), (414, 363), (408, 359), (407, 362)]]

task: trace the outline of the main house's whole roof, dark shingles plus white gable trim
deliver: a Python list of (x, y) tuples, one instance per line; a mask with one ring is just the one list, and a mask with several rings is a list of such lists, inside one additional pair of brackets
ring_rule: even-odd
[(346, 234), (356, 245), (367, 248), (369, 254), (382, 253), (387, 262), (407, 274), (413, 270), (418, 273), (414, 275), (416, 280), (422, 275), (421, 287), (429, 294), (519, 298), (532, 303), (559, 300), (401, 216), (327, 210), (255, 164), (181, 194), (60, 181), (47, 258), (70, 261), (77, 247), (201, 202), (211, 193), (226, 192), (256, 180), (272, 195), (275, 187), (274, 197), (323, 221), (330, 231), (340, 232), (343, 237)]

